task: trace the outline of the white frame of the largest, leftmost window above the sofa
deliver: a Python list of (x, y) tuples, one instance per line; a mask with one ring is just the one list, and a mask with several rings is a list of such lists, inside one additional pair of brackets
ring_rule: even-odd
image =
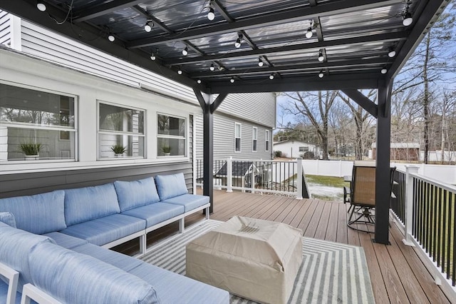
[[(0, 81), (2, 84), (6, 84), (8, 86), (16, 86), (18, 88), (27, 88), (30, 90), (41, 91), (43, 93), (52, 93), (61, 96), (68, 96), (73, 98), (74, 104), (74, 126), (41, 126), (39, 124), (31, 124), (31, 123), (19, 123), (19, 122), (1, 122), (1, 126), (9, 127), (9, 128), (21, 128), (21, 129), (36, 129), (36, 130), (43, 130), (43, 131), (67, 131), (74, 133), (74, 158), (65, 158), (65, 159), (39, 159), (39, 163), (61, 163), (61, 162), (75, 162), (78, 161), (78, 96), (73, 95), (71, 93), (64, 93), (61, 91), (53, 91), (47, 88), (41, 88), (38, 86), (29, 86), (22, 83), (10, 82), (10, 81)], [(58, 140), (60, 141), (60, 132), (58, 136)], [(1, 164), (18, 164), (18, 163), (29, 163), (28, 161), (8, 161), (2, 160), (0, 161)]]

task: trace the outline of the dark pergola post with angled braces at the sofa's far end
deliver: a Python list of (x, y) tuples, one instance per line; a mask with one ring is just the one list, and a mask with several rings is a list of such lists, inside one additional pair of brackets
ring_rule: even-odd
[[(214, 212), (214, 111), (227, 97), (226, 93), (219, 94), (213, 101), (213, 95), (203, 93), (197, 88), (193, 88), (195, 96), (202, 108), (203, 117), (203, 152), (202, 152), (202, 194), (209, 196), (209, 213)], [(213, 101), (213, 102), (212, 102)], [(203, 211), (205, 213), (205, 210)]]

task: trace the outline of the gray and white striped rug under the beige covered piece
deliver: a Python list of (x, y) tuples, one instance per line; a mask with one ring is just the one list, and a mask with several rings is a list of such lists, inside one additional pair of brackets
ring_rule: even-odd
[[(148, 248), (142, 260), (185, 275), (185, 245), (221, 223), (197, 223), (187, 228), (184, 235), (173, 235)], [(303, 256), (289, 304), (375, 303), (363, 248), (303, 238)], [(255, 302), (231, 295), (231, 303)]]

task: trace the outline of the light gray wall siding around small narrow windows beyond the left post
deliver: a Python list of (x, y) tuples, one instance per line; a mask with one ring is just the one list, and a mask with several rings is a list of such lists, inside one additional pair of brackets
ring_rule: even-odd
[[(241, 123), (241, 151), (234, 151), (234, 123)], [(257, 151), (252, 151), (253, 127), (257, 127)], [(196, 133), (196, 153), (197, 158), (202, 158), (203, 151), (203, 120), (202, 114), (195, 116)], [(224, 114), (214, 114), (214, 159), (232, 158), (237, 159), (271, 159), (272, 142), (269, 139), (269, 151), (266, 151), (265, 133), (269, 130), (269, 137), (272, 135), (269, 126), (262, 126), (251, 121), (225, 116)]]

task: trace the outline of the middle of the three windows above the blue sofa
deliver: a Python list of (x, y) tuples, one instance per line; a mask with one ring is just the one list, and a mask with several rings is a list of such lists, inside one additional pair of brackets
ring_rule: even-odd
[(98, 158), (144, 158), (144, 113), (98, 103)]

